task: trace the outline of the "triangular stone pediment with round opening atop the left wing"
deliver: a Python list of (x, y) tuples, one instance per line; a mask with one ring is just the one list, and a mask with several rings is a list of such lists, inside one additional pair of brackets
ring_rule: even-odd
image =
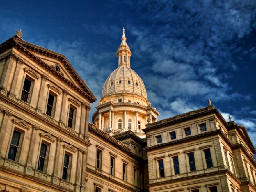
[[(16, 36), (0, 46), (4, 46), (5, 49), (15, 48), (30, 58), (35, 64), (40, 65), (40, 67), (49, 71), (60, 81), (63, 81), (70, 89), (86, 97), (90, 103), (97, 100), (64, 55), (33, 45)], [(60, 71), (56, 70), (56, 65), (59, 66)]]

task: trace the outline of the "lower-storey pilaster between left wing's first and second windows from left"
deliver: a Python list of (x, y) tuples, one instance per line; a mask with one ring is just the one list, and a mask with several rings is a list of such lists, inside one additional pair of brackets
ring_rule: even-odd
[(29, 154), (28, 154), (27, 163), (25, 166), (25, 173), (29, 175), (32, 173), (32, 169), (33, 169), (32, 159), (33, 159), (33, 154), (35, 149), (35, 140), (36, 140), (37, 131), (40, 129), (37, 125), (33, 125), (32, 128), (33, 130), (32, 130), (31, 139), (30, 139)]

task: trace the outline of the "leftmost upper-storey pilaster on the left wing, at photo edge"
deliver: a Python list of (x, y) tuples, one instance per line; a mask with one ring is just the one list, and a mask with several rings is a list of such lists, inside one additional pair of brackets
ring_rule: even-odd
[(7, 95), (8, 93), (8, 86), (11, 84), (9, 81), (13, 77), (12, 68), (16, 58), (17, 56), (15, 56), (13, 53), (9, 53), (5, 58), (3, 58), (4, 68), (0, 81), (0, 93), (3, 95)]

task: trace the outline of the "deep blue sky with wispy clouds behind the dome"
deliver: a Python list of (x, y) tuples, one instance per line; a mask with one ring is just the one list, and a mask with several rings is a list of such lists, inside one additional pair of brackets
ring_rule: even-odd
[(64, 54), (98, 99), (90, 117), (125, 27), (131, 68), (159, 119), (210, 98), (256, 140), (255, 1), (0, 2), (0, 42), (22, 29), (24, 40)]

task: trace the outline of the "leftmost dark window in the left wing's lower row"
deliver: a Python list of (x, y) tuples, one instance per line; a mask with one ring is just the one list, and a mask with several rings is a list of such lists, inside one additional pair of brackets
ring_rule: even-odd
[(13, 161), (17, 161), (17, 153), (19, 150), (19, 142), (20, 142), (20, 136), (21, 133), (19, 131), (14, 130), (13, 131), (13, 137), (9, 149), (8, 159), (11, 159)]

